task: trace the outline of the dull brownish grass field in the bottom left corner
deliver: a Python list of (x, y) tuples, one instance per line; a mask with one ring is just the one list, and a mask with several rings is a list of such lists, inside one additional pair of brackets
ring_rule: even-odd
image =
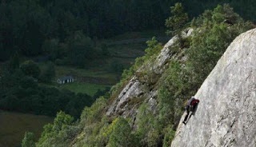
[(52, 117), (0, 110), (0, 147), (21, 146), (26, 132), (33, 132), (38, 139), (43, 125), (53, 121)]

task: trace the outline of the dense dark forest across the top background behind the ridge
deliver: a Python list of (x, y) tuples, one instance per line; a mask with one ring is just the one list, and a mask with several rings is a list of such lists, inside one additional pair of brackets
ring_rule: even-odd
[[(102, 58), (99, 57), (101, 50), (94, 47), (99, 38), (163, 28), (170, 6), (175, 2), (178, 1), (3, 0), (0, 4), (0, 61), (18, 52), (25, 56), (48, 54), (52, 60), (61, 62), (66, 58), (64, 62), (81, 66), (82, 57), (89, 61)], [(189, 18), (194, 18), (203, 10), (225, 2), (243, 18), (255, 21), (254, 1), (191, 0), (184, 1), (183, 5)]]

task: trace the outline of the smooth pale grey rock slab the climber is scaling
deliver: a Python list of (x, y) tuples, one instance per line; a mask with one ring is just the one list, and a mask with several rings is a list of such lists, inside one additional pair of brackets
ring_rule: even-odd
[(183, 114), (173, 147), (256, 146), (256, 29), (235, 38), (198, 93), (194, 116)]

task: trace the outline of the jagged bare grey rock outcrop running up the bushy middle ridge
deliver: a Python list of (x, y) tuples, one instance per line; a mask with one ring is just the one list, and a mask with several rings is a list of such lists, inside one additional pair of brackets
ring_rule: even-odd
[[(187, 38), (192, 34), (193, 30), (189, 29), (183, 32), (182, 37)], [(161, 50), (161, 53), (155, 59), (154, 62), (150, 62), (149, 65), (144, 65), (138, 69), (137, 74), (128, 82), (128, 84), (122, 89), (118, 97), (114, 99), (111, 105), (109, 105), (106, 115), (121, 115), (123, 117), (131, 117), (132, 120), (136, 119), (138, 106), (141, 103), (147, 103), (150, 105), (150, 110), (154, 112), (156, 108), (158, 96), (158, 79), (162, 76), (162, 73), (169, 66), (170, 59), (173, 52), (170, 50), (170, 46), (174, 46), (178, 37), (171, 38), (169, 42)], [(143, 71), (150, 71), (155, 75), (154, 85), (147, 79), (148, 75), (139, 75)], [(142, 80), (144, 79), (144, 80)]]

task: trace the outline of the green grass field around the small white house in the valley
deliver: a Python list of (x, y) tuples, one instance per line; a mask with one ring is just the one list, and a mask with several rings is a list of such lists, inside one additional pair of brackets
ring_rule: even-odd
[[(94, 96), (98, 89), (106, 89), (114, 85), (118, 79), (117, 74), (110, 73), (104, 70), (84, 70), (69, 66), (56, 66), (56, 78), (53, 86), (58, 89), (69, 89), (74, 93), (87, 93)], [(58, 77), (71, 75), (74, 77), (73, 83), (59, 85), (56, 83)]]

